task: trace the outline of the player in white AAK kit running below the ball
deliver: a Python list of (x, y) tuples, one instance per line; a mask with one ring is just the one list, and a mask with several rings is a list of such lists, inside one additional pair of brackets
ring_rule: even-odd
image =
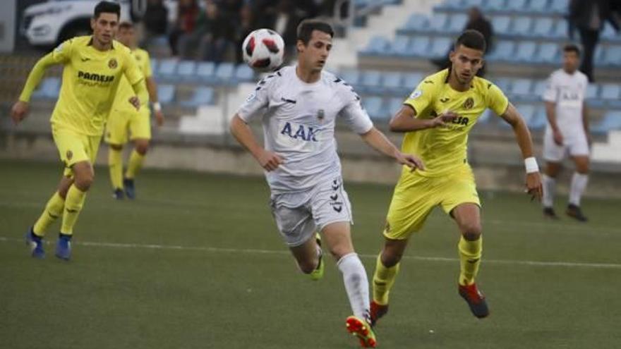
[[(337, 117), (371, 147), (411, 169), (421, 161), (402, 154), (373, 127), (351, 86), (322, 71), (332, 48), (329, 24), (304, 20), (298, 27), (296, 66), (287, 66), (261, 80), (231, 121), (231, 133), (265, 169), (271, 208), (278, 230), (305, 274), (323, 274), (320, 231), (337, 266), (354, 316), (346, 319), (350, 333), (363, 347), (375, 347), (369, 325), (368, 278), (351, 243), (351, 205), (343, 188), (334, 140)], [(265, 148), (246, 124), (263, 122)]]

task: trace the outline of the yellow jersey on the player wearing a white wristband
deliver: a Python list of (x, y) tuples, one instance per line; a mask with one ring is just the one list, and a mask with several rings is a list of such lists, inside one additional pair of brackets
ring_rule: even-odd
[[(402, 152), (423, 159), (425, 171), (416, 171), (422, 176), (442, 176), (459, 166), (467, 166), (468, 133), (472, 126), (486, 109), (502, 115), (509, 104), (500, 88), (483, 78), (475, 77), (467, 91), (453, 90), (448, 83), (449, 74), (450, 70), (445, 69), (429, 75), (404, 102), (414, 108), (416, 118), (434, 118), (447, 110), (459, 114), (447, 127), (405, 134)], [(409, 168), (404, 166), (402, 176), (409, 173)]]

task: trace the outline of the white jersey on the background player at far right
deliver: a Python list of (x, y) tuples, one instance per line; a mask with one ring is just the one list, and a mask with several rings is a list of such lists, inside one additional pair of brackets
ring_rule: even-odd
[[(586, 75), (579, 71), (569, 74), (559, 69), (548, 79), (548, 87), (543, 92), (543, 100), (556, 104), (556, 123), (565, 138), (579, 137), (584, 134), (582, 108), (588, 85), (589, 80)], [(551, 134), (550, 123), (545, 132)]]

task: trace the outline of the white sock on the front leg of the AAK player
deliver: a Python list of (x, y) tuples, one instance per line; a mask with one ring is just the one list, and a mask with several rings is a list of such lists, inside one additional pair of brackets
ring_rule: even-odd
[(351, 311), (354, 312), (355, 317), (368, 320), (368, 278), (360, 258), (358, 258), (356, 253), (351, 252), (349, 255), (344, 255), (339, 259), (337, 267), (343, 273), (343, 282), (345, 283)]

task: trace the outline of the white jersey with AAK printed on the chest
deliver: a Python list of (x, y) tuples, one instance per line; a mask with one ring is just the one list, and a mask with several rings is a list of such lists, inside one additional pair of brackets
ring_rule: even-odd
[(322, 71), (318, 82), (308, 84), (298, 78), (295, 66), (258, 82), (237, 114), (246, 123), (262, 117), (265, 149), (284, 161), (265, 172), (273, 194), (309, 190), (341, 175), (334, 139), (337, 116), (358, 134), (373, 127), (360, 97), (346, 82)]

